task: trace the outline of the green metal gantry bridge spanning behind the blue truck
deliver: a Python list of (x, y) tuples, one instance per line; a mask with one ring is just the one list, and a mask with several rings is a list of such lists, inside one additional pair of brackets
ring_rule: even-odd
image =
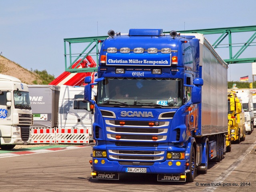
[[(246, 34), (246, 32), (250, 32)], [(164, 32), (169, 34), (170, 32)], [(242, 58), (241, 54), (246, 50), (256, 45), (256, 26), (243, 26), (243, 27), (229, 27), (229, 28), (213, 28), (213, 29), (200, 29), (200, 30), (184, 30), (178, 31), (178, 33), (201, 33), (208, 36), (215, 35), (215, 42), (211, 43), (217, 50), (218, 48), (228, 49), (229, 56), (225, 56), (224, 61), (228, 64), (235, 63), (251, 63), (256, 62), (256, 57)], [(232, 42), (232, 34), (238, 34), (236, 41)], [(243, 37), (243, 38), (240, 38)], [(84, 60), (86, 56), (90, 55), (94, 58), (97, 66), (99, 62), (99, 50), (102, 42), (108, 38), (108, 36), (95, 36), (95, 37), (83, 37), (83, 38), (65, 38), (64, 39), (64, 57), (65, 57), (65, 71), (68, 72), (93, 72), (97, 70), (95, 68), (76, 68), (72, 65), (79, 59)], [(234, 37), (233, 37), (234, 39)], [(225, 43), (227, 41), (227, 43)], [(233, 54), (234, 50), (238, 50)], [(75, 52), (75, 53), (74, 53)], [(218, 52), (218, 50), (217, 50)], [(254, 56), (254, 55), (253, 55)], [(68, 62), (69, 60), (69, 62)]]

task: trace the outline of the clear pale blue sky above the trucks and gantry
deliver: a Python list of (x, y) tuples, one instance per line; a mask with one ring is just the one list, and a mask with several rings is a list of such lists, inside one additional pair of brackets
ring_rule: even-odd
[[(106, 36), (110, 29), (128, 33), (130, 28), (179, 31), (256, 25), (255, 0), (0, 0), (0, 5), (2, 56), (55, 77), (65, 70), (64, 38)], [(241, 41), (234, 35), (232, 41), (248, 38)], [(228, 59), (224, 48), (217, 52)], [(256, 57), (256, 48), (240, 58), (251, 57)], [(247, 75), (252, 81), (251, 63), (229, 65), (228, 81)]]

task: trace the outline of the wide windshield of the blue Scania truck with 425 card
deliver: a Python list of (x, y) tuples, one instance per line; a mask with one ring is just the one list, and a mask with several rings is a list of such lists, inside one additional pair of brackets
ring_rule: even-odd
[(105, 78), (98, 84), (98, 105), (178, 107), (182, 80), (171, 78)]

